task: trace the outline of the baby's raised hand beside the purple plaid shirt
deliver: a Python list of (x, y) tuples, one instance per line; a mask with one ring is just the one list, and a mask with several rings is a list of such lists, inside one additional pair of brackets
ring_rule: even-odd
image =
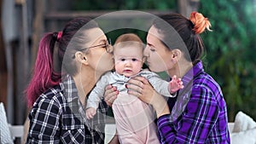
[(181, 80), (181, 78), (177, 78), (176, 75), (174, 75), (172, 77), (172, 80), (169, 82), (169, 92), (171, 94), (174, 94), (175, 92), (177, 92), (178, 89), (183, 89), (183, 81)]

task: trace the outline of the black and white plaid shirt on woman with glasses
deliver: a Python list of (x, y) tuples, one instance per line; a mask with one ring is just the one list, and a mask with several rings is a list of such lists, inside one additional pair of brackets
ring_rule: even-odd
[(29, 114), (26, 143), (104, 143), (108, 106), (100, 102), (93, 119), (86, 119), (73, 78), (40, 95)]

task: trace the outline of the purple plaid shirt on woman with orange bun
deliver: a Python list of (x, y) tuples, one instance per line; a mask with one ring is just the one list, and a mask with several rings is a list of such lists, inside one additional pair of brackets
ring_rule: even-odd
[[(192, 83), (193, 82), (193, 83)], [(161, 143), (230, 143), (227, 107), (214, 79), (198, 62), (183, 77), (172, 113), (161, 116), (158, 131)]]

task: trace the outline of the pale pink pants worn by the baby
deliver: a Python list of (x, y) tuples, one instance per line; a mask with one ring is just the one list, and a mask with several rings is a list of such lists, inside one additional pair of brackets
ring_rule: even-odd
[(153, 107), (125, 92), (119, 93), (112, 107), (120, 143), (160, 143)]

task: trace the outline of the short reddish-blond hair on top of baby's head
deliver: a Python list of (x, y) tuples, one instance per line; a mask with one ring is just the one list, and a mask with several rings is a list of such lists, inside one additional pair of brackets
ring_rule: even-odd
[(140, 37), (138, 37), (134, 33), (125, 33), (120, 35), (115, 43), (114, 43), (114, 48), (116, 47), (125, 47), (125, 46), (131, 46), (133, 44), (137, 44), (142, 50), (144, 49), (143, 41), (141, 40)]

